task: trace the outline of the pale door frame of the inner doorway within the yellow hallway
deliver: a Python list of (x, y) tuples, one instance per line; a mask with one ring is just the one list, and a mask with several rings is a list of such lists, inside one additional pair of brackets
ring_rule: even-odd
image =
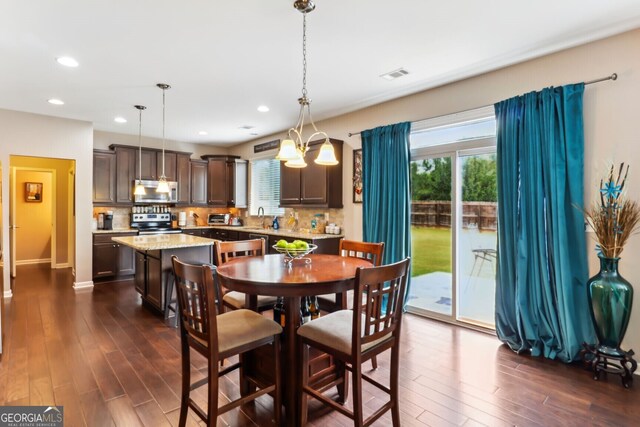
[(11, 259), (10, 259), (10, 264), (11, 264), (11, 277), (16, 277), (16, 254), (17, 254), (17, 239), (15, 236), (15, 229), (19, 228), (16, 227), (16, 196), (17, 196), (17, 189), (16, 189), (16, 175), (18, 171), (32, 171), (32, 172), (44, 172), (44, 173), (50, 173), (51, 174), (51, 255), (50, 255), (50, 260), (49, 260), (49, 264), (51, 266), (51, 269), (55, 269), (56, 268), (56, 260), (57, 260), (57, 253), (56, 253), (56, 246), (57, 246), (57, 239), (56, 239), (56, 224), (57, 224), (57, 217), (56, 217), (56, 199), (57, 199), (57, 195), (56, 195), (56, 187), (57, 187), (57, 182), (56, 182), (56, 170), (55, 169), (50, 169), (50, 168), (38, 168), (38, 167), (30, 167), (30, 166), (10, 166), (10, 170), (11, 170), (11, 182), (10, 182), (10, 196), (9, 196), (9, 242), (11, 245)]

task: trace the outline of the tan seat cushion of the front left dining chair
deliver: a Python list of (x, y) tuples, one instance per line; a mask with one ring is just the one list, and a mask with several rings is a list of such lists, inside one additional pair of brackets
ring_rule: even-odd
[(282, 327), (276, 322), (251, 310), (233, 310), (220, 314), (217, 322), (220, 353), (282, 332)]

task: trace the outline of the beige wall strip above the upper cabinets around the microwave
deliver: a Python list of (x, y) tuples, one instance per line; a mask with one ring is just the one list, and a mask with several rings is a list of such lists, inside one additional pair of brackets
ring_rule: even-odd
[[(111, 144), (138, 146), (138, 135), (125, 135), (122, 133), (93, 131), (93, 148), (107, 150)], [(142, 137), (140, 141), (142, 147), (162, 149), (162, 139)], [(190, 144), (188, 142), (165, 141), (166, 150), (184, 151), (193, 153), (192, 159), (199, 159), (204, 154), (227, 154), (226, 147), (214, 147), (205, 144)]]

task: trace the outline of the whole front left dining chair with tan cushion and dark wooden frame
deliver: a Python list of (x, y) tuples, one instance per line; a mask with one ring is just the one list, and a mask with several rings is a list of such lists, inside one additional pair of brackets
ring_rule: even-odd
[[(182, 350), (182, 392), (179, 426), (187, 421), (191, 408), (208, 426), (216, 424), (218, 415), (266, 394), (273, 394), (275, 425), (280, 425), (280, 333), (282, 327), (272, 320), (251, 311), (234, 310), (218, 314), (215, 294), (219, 287), (216, 267), (181, 262), (171, 257), (176, 277), (178, 313), (180, 316), (180, 344)], [(242, 369), (242, 355), (263, 346), (272, 346), (274, 353), (274, 382), (264, 383)], [(208, 376), (191, 383), (191, 352), (194, 349), (207, 358)], [(218, 369), (219, 361), (239, 355), (239, 362)], [(218, 379), (240, 368), (240, 383), (245, 390), (242, 397), (218, 407)], [(190, 396), (191, 391), (208, 384), (205, 412)]]

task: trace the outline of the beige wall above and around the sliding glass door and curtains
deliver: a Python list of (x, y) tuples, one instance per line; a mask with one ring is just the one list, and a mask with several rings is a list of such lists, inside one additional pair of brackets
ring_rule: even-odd
[[(362, 238), (362, 205), (351, 202), (352, 149), (360, 148), (361, 142), (359, 136), (349, 138), (348, 132), (492, 105), (546, 86), (587, 81), (613, 72), (618, 73), (618, 81), (590, 85), (585, 90), (585, 200), (592, 200), (596, 196), (595, 183), (604, 173), (606, 165), (621, 161), (631, 164), (629, 196), (639, 200), (640, 136), (637, 125), (640, 121), (640, 108), (635, 98), (640, 94), (638, 52), (640, 30), (635, 30), (318, 123), (318, 127), (331, 137), (345, 141), (343, 201), (347, 237)], [(230, 154), (250, 159), (255, 143), (281, 138), (283, 135), (284, 132), (234, 147)], [(597, 271), (593, 246), (590, 241), (589, 262), (592, 274)], [(620, 270), (636, 286), (640, 285), (640, 270), (633, 266), (639, 257), (640, 236), (634, 236), (622, 254)], [(634, 306), (636, 309), (632, 313), (623, 347), (638, 349), (639, 292), (636, 292)]]

